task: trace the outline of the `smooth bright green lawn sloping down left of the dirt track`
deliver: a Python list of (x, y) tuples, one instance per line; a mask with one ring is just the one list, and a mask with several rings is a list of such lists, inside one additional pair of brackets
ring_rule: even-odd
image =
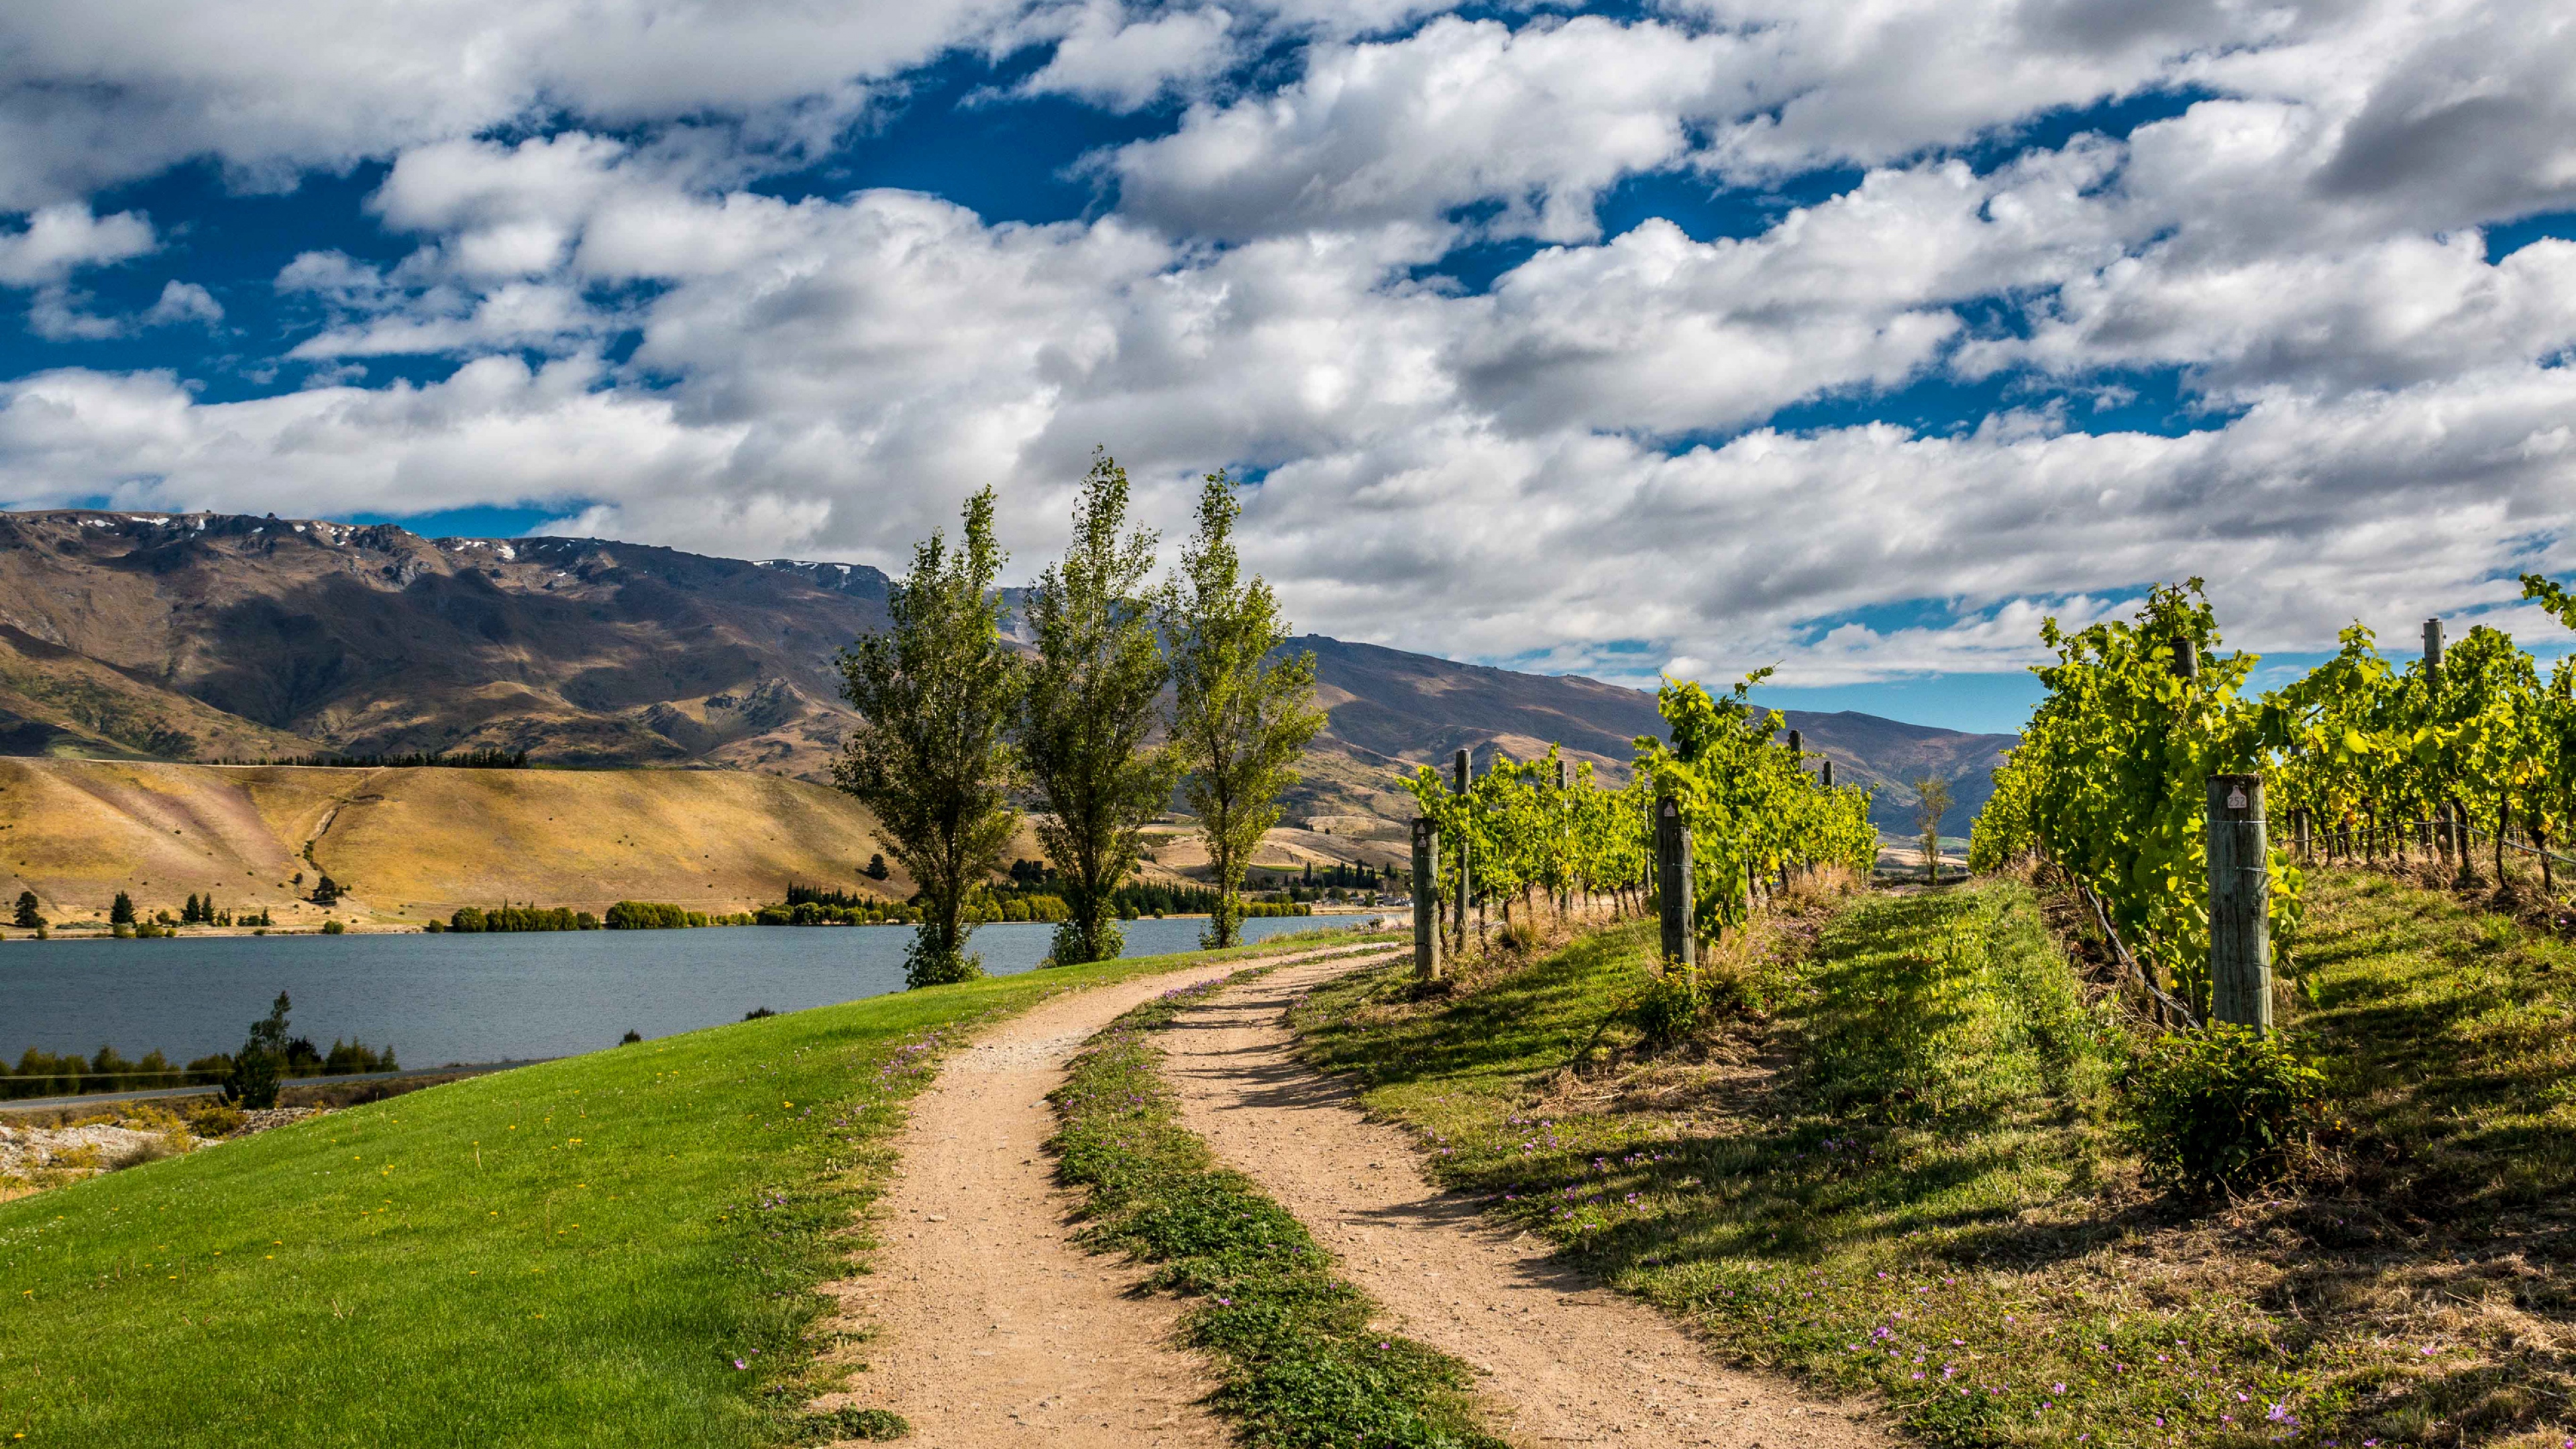
[(0, 1444), (793, 1439), (811, 1287), (868, 1245), (938, 1052), (1198, 959), (641, 1042), (0, 1204)]

